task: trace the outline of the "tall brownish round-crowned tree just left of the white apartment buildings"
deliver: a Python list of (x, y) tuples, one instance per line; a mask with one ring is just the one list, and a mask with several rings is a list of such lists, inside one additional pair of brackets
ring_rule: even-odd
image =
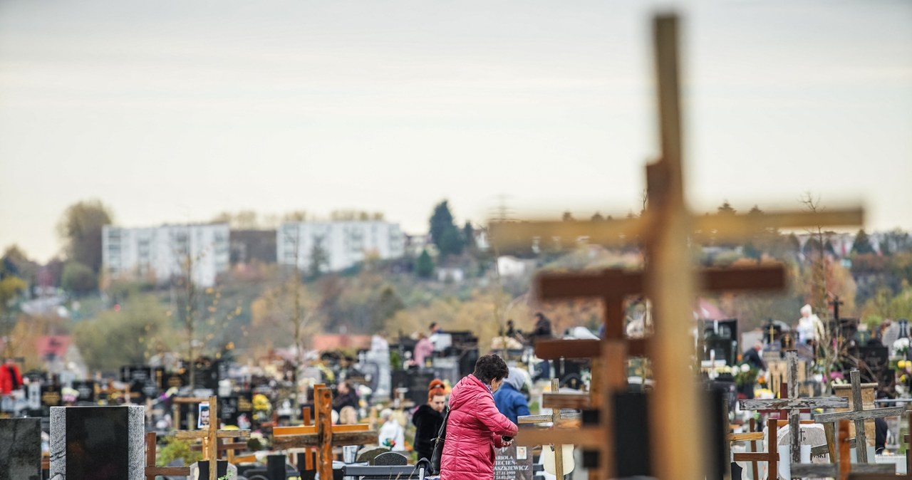
[(108, 207), (98, 199), (70, 205), (57, 223), (67, 260), (76, 260), (95, 274), (101, 270), (101, 228), (111, 223)]

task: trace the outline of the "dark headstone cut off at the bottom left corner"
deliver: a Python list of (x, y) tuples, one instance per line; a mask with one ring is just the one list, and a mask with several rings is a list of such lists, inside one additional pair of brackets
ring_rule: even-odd
[(0, 419), (0, 480), (41, 480), (41, 419)]

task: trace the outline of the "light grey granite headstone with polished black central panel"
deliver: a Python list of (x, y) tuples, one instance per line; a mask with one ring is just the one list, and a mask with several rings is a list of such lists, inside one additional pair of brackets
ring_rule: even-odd
[(51, 408), (51, 480), (142, 480), (145, 408)]

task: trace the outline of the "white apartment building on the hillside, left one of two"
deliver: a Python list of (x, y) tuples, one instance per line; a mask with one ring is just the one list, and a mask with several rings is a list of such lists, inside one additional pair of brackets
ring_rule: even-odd
[(187, 271), (202, 287), (229, 268), (228, 224), (162, 225), (126, 229), (106, 225), (102, 230), (102, 260), (111, 279), (170, 281)]

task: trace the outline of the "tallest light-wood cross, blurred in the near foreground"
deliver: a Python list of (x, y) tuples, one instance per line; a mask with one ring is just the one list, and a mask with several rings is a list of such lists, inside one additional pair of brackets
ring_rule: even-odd
[[(679, 104), (678, 17), (658, 15), (653, 24), (658, 87), (661, 159), (647, 167), (648, 209), (640, 219), (605, 221), (494, 222), (494, 247), (527, 248), (534, 240), (561, 239), (624, 245), (641, 242), (647, 253), (644, 287), (652, 301), (654, 330), (648, 348), (657, 390), (650, 402), (650, 438), (655, 475), (661, 479), (697, 480), (705, 475), (708, 452), (698, 391), (689, 371), (693, 347), (689, 322), (694, 300), (689, 240), (695, 233), (715, 239), (741, 240), (758, 230), (855, 227), (861, 209), (782, 212), (764, 215), (695, 216), (686, 207), (683, 142)], [(604, 425), (602, 425), (605, 428)]]

